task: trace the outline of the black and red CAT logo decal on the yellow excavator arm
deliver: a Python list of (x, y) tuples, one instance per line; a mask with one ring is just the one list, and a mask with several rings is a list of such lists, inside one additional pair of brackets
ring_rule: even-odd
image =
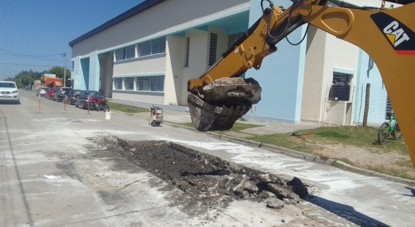
[(396, 54), (415, 55), (415, 34), (411, 29), (382, 12), (372, 14), (371, 18)]

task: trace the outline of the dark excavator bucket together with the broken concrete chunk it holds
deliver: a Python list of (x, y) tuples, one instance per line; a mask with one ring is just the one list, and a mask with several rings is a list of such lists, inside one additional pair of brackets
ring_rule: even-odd
[(261, 100), (261, 87), (249, 78), (221, 78), (203, 87), (204, 99), (189, 94), (190, 117), (199, 131), (224, 131)]

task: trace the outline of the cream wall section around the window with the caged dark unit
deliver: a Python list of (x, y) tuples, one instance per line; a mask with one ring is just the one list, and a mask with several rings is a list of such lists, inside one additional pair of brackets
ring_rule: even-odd
[[(356, 5), (380, 7), (379, 0), (348, 0)], [(386, 7), (391, 3), (386, 2)], [(395, 4), (396, 5), (396, 4)], [(301, 119), (333, 124), (353, 123), (355, 91), (360, 48), (335, 36), (309, 28)], [(349, 101), (329, 101), (333, 72), (347, 72)]]

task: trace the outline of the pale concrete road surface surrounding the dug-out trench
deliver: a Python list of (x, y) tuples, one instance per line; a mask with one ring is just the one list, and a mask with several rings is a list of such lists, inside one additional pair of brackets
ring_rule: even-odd
[[(21, 91), (0, 103), (1, 227), (411, 227), (415, 186), (230, 143), (120, 113), (66, 106)], [(90, 140), (167, 140), (314, 185), (306, 200), (282, 209), (250, 200), (187, 206), (185, 193)], [(48, 178), (56, 179), (48, 179)], [(203, 208), (203, 209), (202, 209)]]

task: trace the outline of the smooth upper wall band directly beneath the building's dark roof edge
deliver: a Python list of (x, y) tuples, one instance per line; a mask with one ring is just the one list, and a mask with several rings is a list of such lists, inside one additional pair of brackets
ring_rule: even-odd
[(184, 31), (197, 24), (245, 11), (249, 0), (168, 0), (120, 22), (72, 47), (72, 56), (110, 51), (129, 44)]

